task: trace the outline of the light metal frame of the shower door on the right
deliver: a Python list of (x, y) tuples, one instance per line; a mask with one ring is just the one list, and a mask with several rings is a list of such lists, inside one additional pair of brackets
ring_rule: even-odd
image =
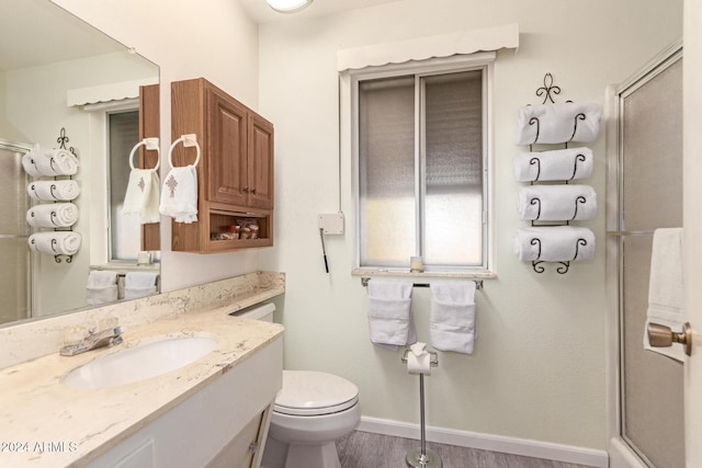
[[(607, 425), (608, 453), (610, 468), (648, 468), (642, 456), (623, 437), (622, 403), (622, 313), (621, 297), (622, 261), (620, 208), (622, 206), (623, 171), (621, 168), (621, 115), (620, 95), (624, 90), (645, 84), (667, 67), (682, 58), (682, 42), (677, 42), (654, 57), (627, 81), (610, 85), (605, 90), (607, 125)], [(682, 85), (682, 84), (681, 84)], [(682, 89), (682, 88), (681, 88)], [(626, 236), (647, 235), (647, 232), (625, 232)], [(642, 330), (643, 346), (643, 330)]]

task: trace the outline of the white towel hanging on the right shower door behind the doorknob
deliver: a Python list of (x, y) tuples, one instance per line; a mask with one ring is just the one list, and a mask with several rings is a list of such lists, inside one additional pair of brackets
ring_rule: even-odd
[(650, 346), (647, 328), (648, 322), (654, 322), (670, 327), (675, 332), (682, 331), (684, 323), (682, 255), (682, 228), (656, 229), (654, 231), (644, 347), (680, 362), (684, 362), (682, 346)]

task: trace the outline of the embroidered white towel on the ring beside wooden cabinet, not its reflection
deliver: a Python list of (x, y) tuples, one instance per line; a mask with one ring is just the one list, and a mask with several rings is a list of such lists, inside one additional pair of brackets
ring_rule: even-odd
[(177, 222), (197, 220), (197, 172), (193, 165), (170, 170), (163, 181), (159, 212)]

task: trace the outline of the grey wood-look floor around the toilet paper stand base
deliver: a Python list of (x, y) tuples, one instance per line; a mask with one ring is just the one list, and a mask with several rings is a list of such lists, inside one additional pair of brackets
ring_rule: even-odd
[[(337, 441), (342, 468), (407, 468), (407, 452), (420, 442), (383, 434), (353, 431)], [(507, 455), (427, 442), (441, 457), (444, 468), (586, 468), (581, 465)]]

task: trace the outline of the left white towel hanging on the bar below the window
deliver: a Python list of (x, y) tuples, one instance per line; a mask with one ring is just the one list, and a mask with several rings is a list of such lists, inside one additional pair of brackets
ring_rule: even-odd
[(371, 342), (389, 350), (417, 341), (411, 315), (412, 283), (372, 279), (369, 283)]

